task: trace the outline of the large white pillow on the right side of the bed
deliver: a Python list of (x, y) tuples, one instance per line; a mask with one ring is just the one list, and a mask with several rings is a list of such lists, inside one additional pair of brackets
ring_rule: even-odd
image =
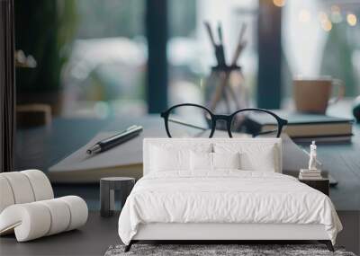
[(216, 153), (240, 153), (240, 169), (245, 171), (275, 172), (277, 166), (277, 146), (265, 143), (216, 143)]

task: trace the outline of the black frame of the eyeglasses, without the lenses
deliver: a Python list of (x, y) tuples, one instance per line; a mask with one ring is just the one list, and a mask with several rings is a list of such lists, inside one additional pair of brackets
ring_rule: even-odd
[(237, 111), (233, 112), (230, 115), (216, 115), (216, 114), (213, 114), (211, 112), (211, 110), (205, 108), (202, 105), (198, 105), (198, 104), (194, 104), (194, 103), (183, 103), (183, 104), (174, 105), (174, 106), (170, 107), (168, 110), (161, 112), (161, 114), (160, 114), (160, 116), (164, 119), (165, 128), (166, 128), (166, 134), (167, 134), (168, 137), (171, 137), (171, 134), (170, 134), (170, 131), (169, 131), (169, 128), (168, 128), (168, 120), (169, 120), (170, 112), (171, 112), (171, 110), (174, 110), (175, 108), (183, 107), (183, 106), (201, 108), (202, 110), (205, 110), (210, 114), (210, 116), (211, 116), (211, 133), (210, 133), (209, 137), (212, 137), (213, 134), (215, 133), (216, 123), (217, 123), (218, 120), (225, 120), (226, 121), (228, 135), (229, 135), (229, 137), (232, 137), (232, 134), (231, 134), (231, 122), (234, 119), (235, 115), (237, 115), (240, 112), (249, 111), (249, 110), (258, 111), (258, 112), (265, 112), (265, 113), (273, 116), (277, 121), (277, 127), (278, 127), (276, 137), (280, 137), (284, 126), (287, 125), (287, 120), (286, 119), (280, 118), (279, 116), (277, 116), (274, 112), (272, 112), (270, 110), (257, 109), (257, 108), (247, 108), (247, 109), (237, 110)]

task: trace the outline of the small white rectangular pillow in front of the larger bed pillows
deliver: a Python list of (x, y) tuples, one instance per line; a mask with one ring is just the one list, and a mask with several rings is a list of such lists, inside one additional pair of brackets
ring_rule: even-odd
[(190, 152), (192, 171), (216, 171), (217, 169), (239, 169), (239, 153)]

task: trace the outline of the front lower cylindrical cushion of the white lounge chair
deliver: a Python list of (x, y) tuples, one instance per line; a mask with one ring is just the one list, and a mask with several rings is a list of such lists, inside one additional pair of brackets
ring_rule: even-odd
[(0, 214), (0, 234), (14, 230), (25, 242), (85, 225), (87, 215), (85, 201), (76, 196), (12, 205)]

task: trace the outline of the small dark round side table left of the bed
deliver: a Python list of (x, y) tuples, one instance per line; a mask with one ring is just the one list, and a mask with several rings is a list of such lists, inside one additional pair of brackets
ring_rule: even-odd
[(135, 178), (108, 177), (100, 180), (100, 215), (112, 216), (114, 210), (114, 190), (121, 191), (121, 208), (134, 187)]

